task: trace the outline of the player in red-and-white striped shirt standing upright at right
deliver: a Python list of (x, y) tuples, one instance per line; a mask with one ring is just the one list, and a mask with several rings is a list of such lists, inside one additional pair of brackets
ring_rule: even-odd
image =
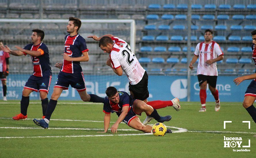
[(219, 47), (218, 43), (212, 40), (213, 31), (205, 30), (205, 41), (198, 43), (194, 53), (194, 57), (190, 62), (189, 68), (192, 70), (193, 64), (196, 62), (199, 57), (199, 62), (197, 66), (197, 78), (200, 86), (200, 101), (201, 109), (199, 112), (206, 111), (206, 88), (207, 84), (209, 89), (215, 99), (215, 111), (219, 111), (219, 91), (216, 89), (218, 71), (216, 67), (216, 62), (221, 61), (223, 57), (223, 52)]

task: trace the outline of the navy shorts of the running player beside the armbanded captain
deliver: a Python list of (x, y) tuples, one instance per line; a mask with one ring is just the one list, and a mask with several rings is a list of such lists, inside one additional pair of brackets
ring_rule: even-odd
[(75, 88), (78, 92), (85, 91), (86, 86), (83, 72), (80, 74), (72, 74), (61, 71), (58, 75), (54, 87), (62, 88), (65, 90), (68, 89), (69, 85), (72, 88)]

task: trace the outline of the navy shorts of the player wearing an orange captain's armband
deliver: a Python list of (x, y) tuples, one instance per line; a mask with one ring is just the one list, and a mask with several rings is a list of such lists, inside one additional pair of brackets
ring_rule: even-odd
[(48, 94), (50, 84), (51, 84), (51, 76), (38, 77), (38, 76), (31, 75), (28, 78), (28, 81), (26, 82), (24, 88), (33, 90), (35, 92), (43, 91)]

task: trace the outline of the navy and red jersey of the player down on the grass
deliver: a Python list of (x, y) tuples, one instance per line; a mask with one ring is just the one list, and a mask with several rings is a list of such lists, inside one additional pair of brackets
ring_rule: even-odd
[(116, 112), (116, 114), (119, 116), (124, 106), (129, 106), (129, 107), (132, 106), (134, 99), (128, 93), (123, 91), (118, 91), (118, 94), (120, 98), (118, 104), (110, 101), (107, 96), (104, 98), (104, 105), (103, 105), (104, 113), (110, 114), (112, 110)]

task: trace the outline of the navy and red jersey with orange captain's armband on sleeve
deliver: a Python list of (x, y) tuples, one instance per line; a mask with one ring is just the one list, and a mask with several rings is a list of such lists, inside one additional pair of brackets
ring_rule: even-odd
[[(43, 76), (51, 76), (51, 65), (50, 65), (50, 57), (48, 47), (44, 43), (40, 43), (39, 45), (33, 45), (30, 43), (24, 47), (26, 50), (30, 51), (40, 51), (41, 55), (39, 57), (31, 56), (33, 63), (34, 76), (43, 77)], [(27, 55), (25, 52), (23, 52)]]

